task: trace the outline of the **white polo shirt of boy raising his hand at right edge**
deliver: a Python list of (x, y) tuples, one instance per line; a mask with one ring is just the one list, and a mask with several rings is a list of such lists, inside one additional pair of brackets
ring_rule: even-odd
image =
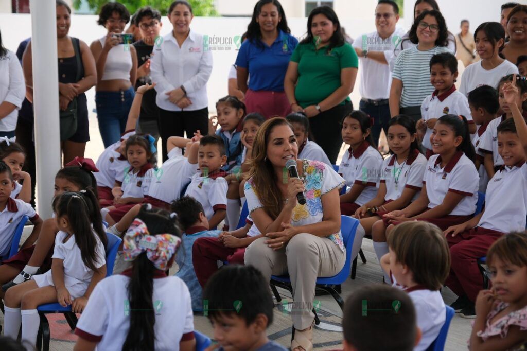
[(478, 227), (508, 233), (524, 231), (527, 217), (527, 164), (502, 166), (489, 181), (485, 212)]

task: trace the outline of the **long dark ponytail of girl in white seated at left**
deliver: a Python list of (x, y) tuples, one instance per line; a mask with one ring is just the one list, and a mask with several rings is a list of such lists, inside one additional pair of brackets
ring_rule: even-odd
[(65, 192), (53, 200), (53, 208), (57, 217), (67, 216), (75, 235), (75, 243), (81, 250), (81, 258), (86, 267), (97, 270), (95, 251), (97, 241), (93, 231), (99, 236), (104, 248), (106, 248), (107, 240), (102, 228), (102, 217), (95, 194), (91, 190)]

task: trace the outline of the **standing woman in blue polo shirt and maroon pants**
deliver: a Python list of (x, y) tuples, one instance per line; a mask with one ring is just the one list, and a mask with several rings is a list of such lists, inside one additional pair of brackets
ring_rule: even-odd
[(247, 40), (236, 58), (238, 87), (245, 94), (247, 113), (258, 112), (269, 118), (285, 117), (291, 112), (284, 77), (298, 41), (290, 32), (278, 0), (256, 3), (247, 26)]

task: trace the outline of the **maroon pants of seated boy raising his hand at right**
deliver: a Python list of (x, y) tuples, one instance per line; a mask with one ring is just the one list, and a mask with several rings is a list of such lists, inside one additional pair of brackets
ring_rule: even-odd
[(483, 276), (477, 259), (486, 256), (494, 241), (502, 235), (502, 232), (482, 227), (472, 228), (455, 237), (449, 234), (446, 240), (452, 262), (445, 285), (457, 296), (466, 295), (475, 302), (478, 292), (483, 289)]

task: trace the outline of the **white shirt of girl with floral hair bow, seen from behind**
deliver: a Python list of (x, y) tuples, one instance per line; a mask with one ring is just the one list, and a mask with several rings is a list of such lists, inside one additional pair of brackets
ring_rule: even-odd
[[(128, 289), (130, 278), (114, 275), (93, 289), (75, 334), (98, 342), (97, 350), (120, 350), (130, 329)], [(178, 277), (153, 279), (155, 349), (179, 350), (179, 343), (192, 335), (194, 319), (189, 289)]]

